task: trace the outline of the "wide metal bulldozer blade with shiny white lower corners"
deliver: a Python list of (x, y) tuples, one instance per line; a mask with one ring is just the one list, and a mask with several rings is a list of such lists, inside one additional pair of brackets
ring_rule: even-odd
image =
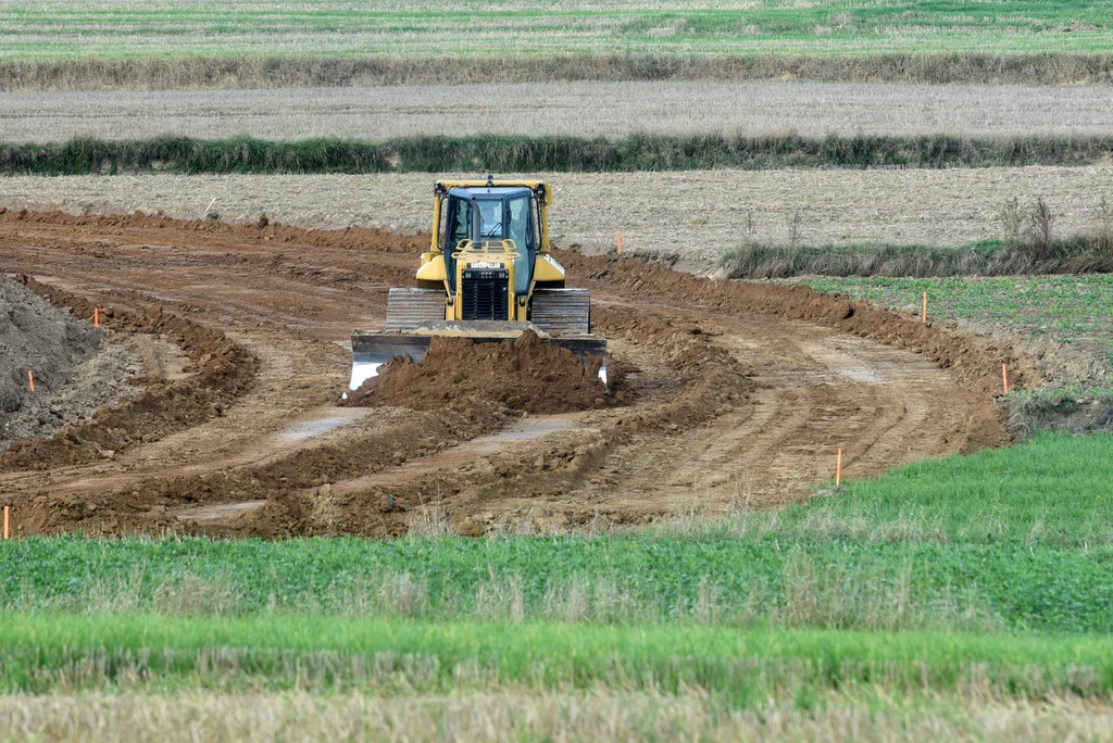
[[(467, 338), (475, 343), (501, 343), (513, 340), (526, 328), (535, 329), (532, 323), (429, 323), (418, 333), (382, 333), (354, 330), (352, 333), (352, 379), (348, 389), (378, 376), (378, 367), (388, 360), (408, 356), (414, 361), (425, 357), (429, 345), (435, 337)], [(607, 384), (607, 339), (598, 336), (546, 337), (546, 343), (568, 348), (585, 367), (592, 365), (591, 357), (598, 356), (599, 378)]]

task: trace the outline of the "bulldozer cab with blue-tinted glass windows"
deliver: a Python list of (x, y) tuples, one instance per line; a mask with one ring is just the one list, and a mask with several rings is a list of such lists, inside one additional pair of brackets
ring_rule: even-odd
[(522, 186), (455, 187), (442, 197), (441, 251), (449, 291), (456, 293), (455, 254), (463, 240), (480, 245), (489, 240), (513, 240), (514, 293), (524, 296), (533, 279), (538, 256), (539, 205), (534, 191)]

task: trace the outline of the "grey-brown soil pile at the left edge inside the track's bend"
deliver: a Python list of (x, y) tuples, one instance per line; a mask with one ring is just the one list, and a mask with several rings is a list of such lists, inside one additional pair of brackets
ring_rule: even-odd
[(131, 392), (132, 359), (118, 347), (98, 355), (102, 344), (99, 328), (0, 276), (0, 452), (51, 436)]

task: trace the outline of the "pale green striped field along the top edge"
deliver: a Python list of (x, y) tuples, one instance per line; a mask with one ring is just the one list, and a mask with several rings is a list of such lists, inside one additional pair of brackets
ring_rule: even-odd
[(1080, 1), (709, 0), (676, 9), (660, 0), (545, 8), (519, 0), (496, 6), (473, 0), (374, 6), (55, 0), (7, 3), (0, 10), (0, 58), (1104, 52), (1111, 46), (1110, 18), (1104, 3)]

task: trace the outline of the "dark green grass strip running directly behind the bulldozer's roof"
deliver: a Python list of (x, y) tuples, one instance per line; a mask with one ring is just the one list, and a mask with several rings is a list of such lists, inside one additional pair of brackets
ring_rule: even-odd
[(740, 168), (954, 168), (1081, 166), (1113, 157), (1113, 137), (876, 137), (631, 135), (580, 137), (411, 137), (381, 143), (343, 139), (268, 141), (73, 139), (0, 143), (0, 175), (367, 174), (638, 171)]

